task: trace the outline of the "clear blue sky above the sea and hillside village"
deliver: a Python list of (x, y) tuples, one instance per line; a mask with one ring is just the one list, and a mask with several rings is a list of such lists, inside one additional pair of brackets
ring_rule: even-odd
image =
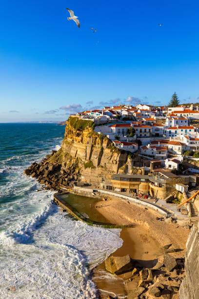
[(174, 91), (199, 101), (198, 11), (196, 0), (1, 1), (0, 122), (166, 105)]

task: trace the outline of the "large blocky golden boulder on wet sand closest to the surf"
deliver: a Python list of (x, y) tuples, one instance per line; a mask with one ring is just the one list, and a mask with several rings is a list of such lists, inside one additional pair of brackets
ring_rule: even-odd
[(126, 256), (110, 256), (105, 260), (105, 269), (113, 274), (119, 275), (121, 273), (130, 271), (132, 263), (129, 255)]

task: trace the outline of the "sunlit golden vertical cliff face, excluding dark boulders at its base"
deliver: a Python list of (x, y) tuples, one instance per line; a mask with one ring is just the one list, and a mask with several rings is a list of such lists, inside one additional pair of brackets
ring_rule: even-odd
[[(67, 122), (60, 149), (61, 170), (67, 172), (71, 165), (81, 181), (100, 183), (102, 177), (110, 181), (111, 174), (127, 162), (128, 153), (115, 148), (106, 137), (95, 133), (93, 128), (74, 128)], [(52, 160), (53, 157), (50, 159)]]

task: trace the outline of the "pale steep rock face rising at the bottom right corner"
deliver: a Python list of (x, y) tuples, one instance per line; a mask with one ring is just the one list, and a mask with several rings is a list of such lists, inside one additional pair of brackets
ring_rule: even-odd
[(186, 278), (179, 288), (180, 299), (199, 298), (199, 224), (194, 225), (186, 243)]

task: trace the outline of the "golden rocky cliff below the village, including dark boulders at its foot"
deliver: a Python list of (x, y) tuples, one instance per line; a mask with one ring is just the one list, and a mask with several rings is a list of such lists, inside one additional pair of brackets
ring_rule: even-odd
[(57, 189), (77, 180), (97, 185), (102, 180), (110, 181), (113, 173), (130, 171), (130, 153), (117, 149), (105, 135), (96, 133), (93, 122), (70, 117), (66, 124), (61, 149), (47, 155), (40, 164), (33, 163), (25, 174)]

